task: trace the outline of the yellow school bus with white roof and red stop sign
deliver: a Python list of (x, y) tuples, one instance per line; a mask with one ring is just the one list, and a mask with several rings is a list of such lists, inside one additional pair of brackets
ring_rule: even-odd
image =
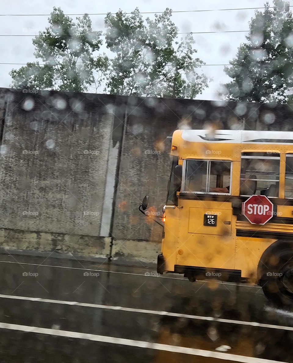
[[(253, 282), (292, 303), (293, 132), (176, 130), (170, 154), (158, 273)], [(268, 207), (245, 214), (251, 196)], [(253, 215), (268, 209), (267, 220)]]

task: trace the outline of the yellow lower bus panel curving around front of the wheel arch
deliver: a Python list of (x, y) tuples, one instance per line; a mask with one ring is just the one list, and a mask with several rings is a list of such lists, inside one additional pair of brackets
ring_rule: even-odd
[(264, 251), (276, 240), (269, 238), (237, 237), (235, 269), (251, 282), (257, 282), (257, 266)]

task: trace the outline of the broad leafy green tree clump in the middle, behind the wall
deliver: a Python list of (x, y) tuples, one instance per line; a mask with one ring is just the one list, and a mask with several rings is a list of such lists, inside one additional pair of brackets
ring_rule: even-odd
[(122, 10), (107, 14), (106, 45), (115, 54), (106, 83), (110, 93), (194, 98), (208, 86), (196, 72), (204, 62), (194, 58), (192, 35), (179, 42), (171, 15), (167, 8), (145, 23), (138, 8), (129, 16)]

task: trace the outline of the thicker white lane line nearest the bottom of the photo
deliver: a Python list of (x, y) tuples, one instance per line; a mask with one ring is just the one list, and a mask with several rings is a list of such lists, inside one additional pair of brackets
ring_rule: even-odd
[(131, 346), (131, 347), (156, 349), (156, 350), (163, 350), (163, 351), (168, 351), (168, 352), (173, 352), (173, 353), (183, 353), (183, 354), (190, 354), (190, 355), (199, 355), (199, 356), (209, 357), (209, 358), (232, 360), (233, 362), (284, 363), (284, 362), (280, 362), (277, 360), (253, 358), (253, 357), (249, 357), (249, 356), (213, 352), (213, 351), (209, 351), (209, 350), (202, 350), (202, 349), (196, 349), (196, 348), (186, 348), (186, 347), (180, 347), (180, 346), (174, 346), (174, 345), (168, 345), (168, 344), (150, 343), (150, 342), (145, 342), (145, 341), (141, 341), (141, 340), (131, 340), (131, 339), (124, 339), (124, 338), (108, 337), (105, 335), (85, 334), (85, 333), (78, 333), (75, 331), (38, 328), (35, 326), (27, 326), (27, 325), (0, 323), (0, 329), (25, 331), (27, 333), (57, 335), (59, 337), (66, 337), (66, 338), (87, 339), (87, 340), (94, 340), (95, 342), (120, 344), (120, 345), (126, 345), (126, 346)]

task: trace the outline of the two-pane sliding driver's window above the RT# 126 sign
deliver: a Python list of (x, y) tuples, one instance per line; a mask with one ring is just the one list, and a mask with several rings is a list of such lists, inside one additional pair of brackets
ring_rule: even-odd
[(231, 162), (184, 160), (183, 192), (230, 194)]

